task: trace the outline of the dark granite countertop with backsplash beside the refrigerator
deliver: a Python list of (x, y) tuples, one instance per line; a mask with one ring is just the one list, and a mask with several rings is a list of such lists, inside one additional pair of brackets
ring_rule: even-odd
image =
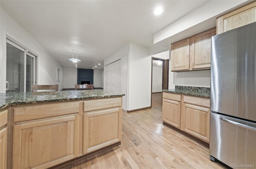
[(184, 94), (189, 96), (210, 98), (210, 87), (175, 86), (175, 89), (164, 89), (162, 91), (174, 94)]

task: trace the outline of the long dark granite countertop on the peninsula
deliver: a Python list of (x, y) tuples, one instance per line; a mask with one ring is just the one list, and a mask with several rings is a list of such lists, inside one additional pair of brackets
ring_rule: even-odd
[(68, 90), (58, 92), (0, 93), (0, 109), (11, 105), (124, 96), (111, 90)]

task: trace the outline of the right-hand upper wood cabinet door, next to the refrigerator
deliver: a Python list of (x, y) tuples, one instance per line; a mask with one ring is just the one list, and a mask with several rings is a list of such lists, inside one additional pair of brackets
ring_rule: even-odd
[(190, 38), (190, 69), (211, 68), (211, 37), (214, 35), (216, 35), (216, 28)]

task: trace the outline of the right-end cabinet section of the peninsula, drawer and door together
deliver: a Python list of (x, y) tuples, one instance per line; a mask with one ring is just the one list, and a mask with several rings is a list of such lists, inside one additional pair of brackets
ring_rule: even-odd
[(83, 153), (122, 140), (122, 98), (84, 101)]

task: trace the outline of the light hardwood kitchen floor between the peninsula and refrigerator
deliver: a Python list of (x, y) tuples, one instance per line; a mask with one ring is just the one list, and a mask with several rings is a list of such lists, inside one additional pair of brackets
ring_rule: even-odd
[(222, 169), (209, 149), (162, 124), (162, 106), (122, 116), (121, 145), (63, 169)]

